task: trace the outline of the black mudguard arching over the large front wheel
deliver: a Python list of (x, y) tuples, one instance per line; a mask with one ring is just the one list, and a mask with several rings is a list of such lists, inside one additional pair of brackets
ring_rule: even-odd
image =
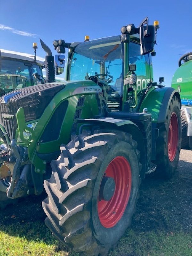
[[(78, 123), (81, 124), (79, 128), (79, 133), (82, 132), (82, 129), (89, 128), (90, 126), (94, 126), (102, 129), (115, 129), (123, 132), (130, 133), (132, 135), (133, 140), (135, 140), (138, 144), (138, 150), (140, 151), (140, 163), (142, 164), (142, 169), (140, 171), (141, 179), (144, 179), (145, 172), (148, 168), (148, 162), (151, 158), (148, 156), (148, 148), (146, 148), (144, 137), (139, 127), (130, 120), (124, 119), (116, 119), (112, 117), (106, 118), (96, 118), (96, 119), (79, 119)], [(150, 158), (150, 159), (149, 159)]]

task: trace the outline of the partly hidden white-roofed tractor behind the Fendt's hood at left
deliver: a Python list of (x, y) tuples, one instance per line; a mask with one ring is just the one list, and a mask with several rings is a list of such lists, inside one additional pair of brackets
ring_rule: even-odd
[(0, 96), (24, 87), (45, 83), (42, 74), (44, 59), (22, 52), (0, 49)]

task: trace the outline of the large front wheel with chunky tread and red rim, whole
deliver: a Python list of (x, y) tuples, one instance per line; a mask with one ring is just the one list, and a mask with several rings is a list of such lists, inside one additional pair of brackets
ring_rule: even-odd
[(140, 152), (132, 136), (88, 131), (61, 145), (44, 181), (45, 224), (76, 252), (107, 255), (131, 224), (140, 184)]

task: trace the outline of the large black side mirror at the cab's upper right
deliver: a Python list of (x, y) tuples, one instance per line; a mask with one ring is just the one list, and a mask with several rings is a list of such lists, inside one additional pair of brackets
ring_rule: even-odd
[(139, 29), (140, 45), (141, 45), (141, 55), (147, 54), (153, 51), (153, 46), (155, 42), (155, 29), (154, 26), (149, 25), (142, 26)]

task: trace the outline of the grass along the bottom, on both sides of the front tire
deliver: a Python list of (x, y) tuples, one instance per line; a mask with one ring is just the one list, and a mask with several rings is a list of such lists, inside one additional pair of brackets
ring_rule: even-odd
[[(62, 247), (44, 223), (12, 223), (1, 227), (1, 256), (78, 256)], [(108, 256), (191, 256), (192, 234), (128, 229)]]

